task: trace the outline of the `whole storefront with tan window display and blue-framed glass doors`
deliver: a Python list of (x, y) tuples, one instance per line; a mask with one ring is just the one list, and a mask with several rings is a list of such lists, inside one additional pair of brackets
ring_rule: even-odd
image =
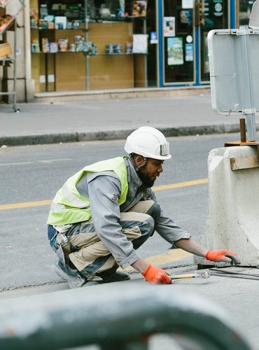
[(208, 32), (248, 24), (252, 4), (26, 0), (18, 89), (29, 81), (34, 93), (209, 85)]

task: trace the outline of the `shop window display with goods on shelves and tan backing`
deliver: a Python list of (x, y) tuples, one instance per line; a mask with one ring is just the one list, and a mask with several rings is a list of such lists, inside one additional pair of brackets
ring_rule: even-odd
[[(144, 61), (140, 63), (134, 57), (136, 25), (133, 22), (134, 18), (142, 18), (138, 30), (144, 34), (146, 1), (34, 0), (30, 5), (32, 77), (36, 92), (136, 85), (134, 67), (138, 65), (139, 69)], [(65, 75), (64, 71), (71, 75)]]

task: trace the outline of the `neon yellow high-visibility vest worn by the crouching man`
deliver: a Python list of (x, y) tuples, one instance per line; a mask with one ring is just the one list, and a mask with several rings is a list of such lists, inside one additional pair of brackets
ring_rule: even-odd
[(123, 157), (103, 160), (84, 167), (71, 176), (55, 195), (50, 207), (47, 223), (49, 225), (66, 225), (88, 221), (92, 217), (90, 200), (82, 197), (76, 184), (86, 172), (114, 172), (120, 179), (121, 194), (118, 204), (123, 204), (127, 196), (127, 167)]

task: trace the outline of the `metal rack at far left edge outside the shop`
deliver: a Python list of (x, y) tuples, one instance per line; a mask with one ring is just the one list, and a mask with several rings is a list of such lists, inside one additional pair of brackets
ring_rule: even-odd
[[(13, 0), (0, 0), (0, 5), (1, 7), (5, 7), (9, 1)], [(16, 69), (17, 69), (17, 57), (16, 57), (16, 45), (17, 45), (17, 29), (18, 29), (18, 23), (17, 23), (17, 17), (20, 12), (25, 8), (25, 3), (22, 0), (18, 0), (20, 3), (20, 8), (16, 11), (15, 14), (13, 15), (4, 15), (6, 18), (6, 21), (3, 22), (3, 24), (0, 27), (0, 36), (5, 34), (5, 32), (10, 29), (11, 27), (13, 28), (13, 35), (14, 35), (14, 43), (13, 43), (13, 57), (3, 56), (0, 57), (0, 64), (2, 66), (8, 66), (9, 68), (9, 63), (13, 64), (13, 91), (3, 91), (0, 92), (0, 96), (4, 95), (12, 95), (13, 96), (13, 110), (15, 112), (20, 112), (20, 109), (18, 109), (18, 106), (16, 105)], [(3, 16), (1, 16), (3, 18)]]

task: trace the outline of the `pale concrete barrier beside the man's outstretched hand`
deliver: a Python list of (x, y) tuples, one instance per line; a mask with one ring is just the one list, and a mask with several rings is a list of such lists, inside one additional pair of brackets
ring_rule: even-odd
[[(200, 244), (236, 251), (241, 266), (259, 265), (259, 162), (256, 146), (209, 153), (209, 203)], [(200, 257), (198, 265), (222, 265)]]

